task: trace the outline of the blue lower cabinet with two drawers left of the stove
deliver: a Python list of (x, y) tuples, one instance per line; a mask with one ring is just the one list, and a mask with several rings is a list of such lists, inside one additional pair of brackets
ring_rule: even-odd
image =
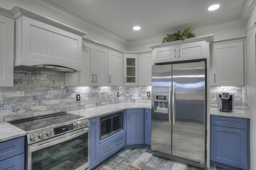
[(25, 169), (25, 138), (0, 143), (0, 170)]

